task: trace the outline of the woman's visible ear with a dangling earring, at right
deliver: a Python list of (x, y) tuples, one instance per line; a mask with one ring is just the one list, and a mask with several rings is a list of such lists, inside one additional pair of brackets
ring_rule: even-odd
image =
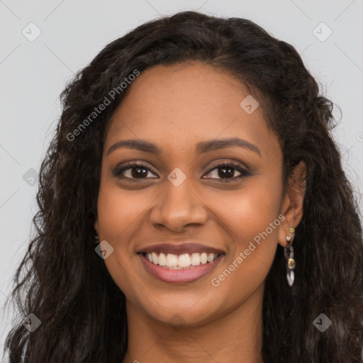
[(289, 177), (287, 190), (281, 204), (281, 213), (285, 216), (285, 219), (281, 222), (279, 228), (278, 241), (283, 247), (288, 245), (286, 236), (291, 236), (291, 242), (294, 240), (294, 233), (291, 233), (290, 228), (295, 229), (303, 217), (305, 192), (306, 164), (301, 161), (294, 167), (294, 171)]

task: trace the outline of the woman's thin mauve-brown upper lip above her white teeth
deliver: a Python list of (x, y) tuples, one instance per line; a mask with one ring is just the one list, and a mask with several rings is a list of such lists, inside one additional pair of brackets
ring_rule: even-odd
[(173, 255), (182, 255), (184, 253), (223, 253), (223, 250), (217, 248), (202, 245), (201, 243), (188, 242), (180, 245), (174, 245), (170, 243), (160, 243), (158, 245), (150, 245), (140, 248), (138, 253), (172, 253)]

